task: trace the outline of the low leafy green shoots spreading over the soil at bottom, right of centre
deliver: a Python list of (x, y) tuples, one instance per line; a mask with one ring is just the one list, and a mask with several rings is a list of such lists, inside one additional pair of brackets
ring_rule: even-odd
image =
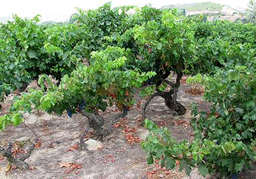
[(177, 160), (180, 161), (180, 171), (185, 168), (186, 174), (189, 175), (191, 167), (195, 164), (191, 160), (188, 141), (184, 139), (177, 143), (176, 139), (171, 138), (171, 133), (166, 127), (158, 128), (148, 119), (145, 119), (145, 127), (150, 133), (140, 145), (147, 153), (147, 164), (153, 164), (157, 160), (161, 167), (173, 169)]

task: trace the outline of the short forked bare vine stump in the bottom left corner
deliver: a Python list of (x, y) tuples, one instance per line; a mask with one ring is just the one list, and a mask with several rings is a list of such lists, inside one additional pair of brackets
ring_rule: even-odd
[(12, 163), (13, 165), (17, 166), (18, 168), (23, 168), (25, 170), (29, 170), (29, 165), (27, 163), (25, 163), (24, 161), (29, 158), (31, 152), (35, 148), (35, 144), (32, 143), (32, 145), (27, 150), (27, 153), (21, 155), (19, 158), (14, 158), (14, 156), (11, 154), (12, 146), (13, 146), (13, 144), (11, 142), (9, 142), (6, 150), (3, 147), (0, 147), (0, 153), (2, 154), (2, 156), (4, 156), (8, 162)]

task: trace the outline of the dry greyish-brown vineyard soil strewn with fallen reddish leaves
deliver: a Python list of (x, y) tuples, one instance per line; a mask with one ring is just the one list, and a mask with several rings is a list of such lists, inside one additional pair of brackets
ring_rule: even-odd
[[(184, 80), (184, 78), (183, 78)], [(188, 108), (191, 102), (197, 102), (200, 110), (209, 110), (210, 103), (205, 102), (200, 95), (185, 93), (191, 84), (181, 83), (178, 101)], [(37, 88), (33, 81), (28, 87)], [(7, 112), (12, 103), (9, 96), (3, 104), (1, 115)], [(0, 178), (204, 178), (193, 170), (190, 176), (184, 171), (180, 172), (178, 166), (173, 170), (159, 169), (158, 165), (146, 164), (146, 153), (140, 147), (140, 140), (144, 140), (148, 130), (140, 125), (141, 109), (145, 99), (135, 96), (141, 101), (141, 106), (135, 105), (125, 118), (119, 119), (110, 135), (103, 138), (102, 144), (96, 149), (86, 149), (81, 152), (76, 150), (82, 127), (87, 124), (80, 114), (70, 118), (66, 113), (62, 116), (47, 114), (42, 111), (33, 111), (26, 115), (25, 123), (16, 127), (7, 126), (0, 131), (0, 145), (4, 148), (7, 143), (13, 142), (13, 153), (18, 156), (35, 140), (33, 129), (41, 140), (41, 146), (35, 148), (31, 156), (25, 160), (31, 166), (30, 171), (20, 170), (11, 165), (11, 170), (5, 172), (7, 161), (0, 158)], [(120, 113), (112, 106), (102, 112), (104, 118)], [(157, 97), (152, 100), (146, 110), (146, 118), (153, 120), (159, 126), (167, 127), (178, 141), (184, 137), (193, 140), (193, 129), (189, 121), (190, 109), (183, 116), (178, 116), (169, 110), (164, 99)], [(88, 134), (90, 137), (93, 133)], [(84, 139), (86, 141), (87, 139)], [(253, 165), (254, 167), (255, 165)], [(255, 168), (255, 167), (254, 167)], [(246, 174), (247, 172), (247, 174)], [(255, 170), (246, 171), (245, 178), (256, 178)], [(215, 178), (215, 176), (206, 176)]]

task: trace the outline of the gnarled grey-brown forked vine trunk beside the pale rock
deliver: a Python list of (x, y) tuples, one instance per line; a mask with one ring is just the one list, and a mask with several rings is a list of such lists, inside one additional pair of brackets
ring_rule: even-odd
[(83, 127), (83, 132), (80, 137), (80, 151), (83, 148), (83, 138), (86, 132), (89, 133), (89, 130), (92, 129), (94, 131), (95, 138), (102, 139), (103, 136), (108, 135), (113, 130), (113, 124), (116, 122), (117, 119), (125, 117), (124, 113), (116, 114), (110, 119), (106, 127), (102, 128), (102, 126), (105, 123), (105, 120), (102, 116), (98, 114), (96, 110), (93, 111), (93, 114), (89, 114), (84, 109), (81, 109), (79, 113), (82, 114), (84, 117), (87, 117), (87, 119), (89, 120), (89, 123)]

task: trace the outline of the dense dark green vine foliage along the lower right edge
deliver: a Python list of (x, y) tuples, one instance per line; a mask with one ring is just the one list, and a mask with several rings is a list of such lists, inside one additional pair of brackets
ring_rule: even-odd
[(209, 115), (204, 111), (198, 113), (193, 105), (192, 114), (200, 117), (194, 118), (191, 123), (196, 139), (209, 139), (218, 144), (206, 155), (207, 166), (216, 166), (208, 167), (209, 171), (216, 170), (227, 176), (228, 172), (241, 171), (243, 165), (250, 168), (249, 160), (256, 155), (251, 147), (256, 125), (255, 78), (254, 71), (245, 66), (236, 66), (229, 71), (220, 70), (213, 78), (204, 77), (204, 99), (214, 105)]

